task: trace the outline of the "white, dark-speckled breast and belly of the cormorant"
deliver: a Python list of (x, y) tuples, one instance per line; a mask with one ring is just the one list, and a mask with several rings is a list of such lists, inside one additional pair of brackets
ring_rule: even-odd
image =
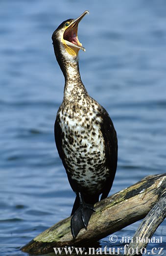
[(60, 107), (58, 119), (67, 173), (80, 190), (101, 193), (109, 170), (105, 164), (105, 146), (100, 129), (98, 104), (84, 108)]

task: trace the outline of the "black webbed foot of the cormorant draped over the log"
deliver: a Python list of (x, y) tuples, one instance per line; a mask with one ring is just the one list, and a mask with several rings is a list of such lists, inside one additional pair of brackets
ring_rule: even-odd
[(73, 238), (76, 238), (83, 227), (87, 229), (93, 212), (95, 212), (94, 205), (81, 202), (79, 208), (74, 212), (71, 218), (71, 233)]

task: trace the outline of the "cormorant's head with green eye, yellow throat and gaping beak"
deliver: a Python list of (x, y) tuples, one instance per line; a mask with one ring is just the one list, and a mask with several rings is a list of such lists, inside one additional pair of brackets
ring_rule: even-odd
[(77, 32), (79, 22), (87, 13), (89, 11), (84, 11), (78, 18), (62, 22), (53, 32), (52, 41), (56, 55), (60, 50), (63, 56), (65, 55), (71, 59), (78, 56), (80, 49), (85, 51), (85, 48), (78, 40)]

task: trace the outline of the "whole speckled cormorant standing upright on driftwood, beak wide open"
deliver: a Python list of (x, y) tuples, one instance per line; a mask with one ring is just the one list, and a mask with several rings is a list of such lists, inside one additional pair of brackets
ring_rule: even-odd
[[(89, 11), (62, 22), (52, 34), (56, 60), (65, 77), (64, 96), (55, 125), (55, 143), (76, 197), (71, 234), (87, 229), (96, 202), (112, 187), (118, 160), (118, 139), (107, 111), (89, 96), (79, 72), (78, 24)], [(101, 195), (101, 196), (100, 196)]]

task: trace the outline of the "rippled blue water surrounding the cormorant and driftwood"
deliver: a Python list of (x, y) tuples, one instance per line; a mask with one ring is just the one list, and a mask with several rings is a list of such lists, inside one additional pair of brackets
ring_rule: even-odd
[[(109, 112), (119, 139), (111, 193), (166, 168), (166, 1), (0, 2), (0, 255), (68, 217), (74, 200), (54, 143), (64, 78), (52, 32), (84, 10), (81, 77)], [(117, 232), (132, 236), (140, 222)], [(166, 222), (155, 232), (166, 247)], [(109, 238), (100, 246), (111, 247)], [(114, 245), (115, 246), (115, 245)], [(118, 245), (117, 245), (118, 246)], [(166, 252), (166, 251), (165, 251)]]

